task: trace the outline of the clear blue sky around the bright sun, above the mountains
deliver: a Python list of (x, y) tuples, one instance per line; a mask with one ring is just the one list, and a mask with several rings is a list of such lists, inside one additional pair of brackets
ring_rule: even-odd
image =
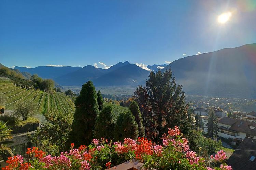
[(256, 43), (255, 32), (255, 0), (0, 1), (0, 63), (8, 67), (168, 64)]

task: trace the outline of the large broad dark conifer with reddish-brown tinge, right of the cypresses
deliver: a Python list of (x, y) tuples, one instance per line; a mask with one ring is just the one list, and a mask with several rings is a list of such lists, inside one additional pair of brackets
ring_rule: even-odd
[(143, 117), (145, 134), (154, 142), (160, 142), (168, 128), (179, 126), (184, 134), (191, 131), (193, 117), (187, 113), (182, 86), (176, 84), (171, 70), (150, 72), (144, 86), (134, 92)]

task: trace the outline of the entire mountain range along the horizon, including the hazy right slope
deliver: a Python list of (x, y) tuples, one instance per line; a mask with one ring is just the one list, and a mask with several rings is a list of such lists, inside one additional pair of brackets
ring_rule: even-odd
[[(163, 68), (164, 67), (164, 68)], [(147, 66), (152, 71), (171, 69), (187, 94), (256, 98), (256, 44), (225, 48), (188, 56), (169, 65)], [(15, 67), (20, 72), (52, 78), (62, 86), (81, 86), (92, 80), (95, 86), (137, 86), (144, 84), (150, 71), (119, 62), (109, 69), (85, 67)], [(24, 74), (24, 73), (23, 73)]]

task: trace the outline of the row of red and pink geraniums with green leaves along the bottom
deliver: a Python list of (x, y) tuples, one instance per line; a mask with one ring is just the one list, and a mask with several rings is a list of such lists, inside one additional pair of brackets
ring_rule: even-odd
[[(188, 140), (182, 136), (180, 130), (169, 129), (168, 135), (163, 136), (162, 145), (153, 145), (146, 138), (133, 140), (125, 138), (124, 142), (114, 142), (93, 139), (88, 147), (81, 145), (74, 148), (71, 143), (69, 152), (61, 152), (59, 156), (52, 156), (39, 150), (37, 147), (27, 149), (27, 160), (23, 156), (10, 157), (3, 169), (108, 169), (112, 166), (137, 159), (145, 169), (201, 169), (212, 170), (207, 167), (203, 157), (200, 157), (188, 147)], [(225, 163), (225, 152), (217, 152), (212, 159), (214, 166), (220, 163), (215, 170), (232, 170)], [(32, 168), (33, 167), (33, 168)]]

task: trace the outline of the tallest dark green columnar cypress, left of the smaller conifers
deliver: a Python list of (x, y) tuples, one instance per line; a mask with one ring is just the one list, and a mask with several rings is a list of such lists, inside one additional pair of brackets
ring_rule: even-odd
[(72, 124), (74, 141), (78, 145), (89, 145), (98, 115), (97, 93), (92, 81), (83, 84), (76, 98), (74, 121)]

